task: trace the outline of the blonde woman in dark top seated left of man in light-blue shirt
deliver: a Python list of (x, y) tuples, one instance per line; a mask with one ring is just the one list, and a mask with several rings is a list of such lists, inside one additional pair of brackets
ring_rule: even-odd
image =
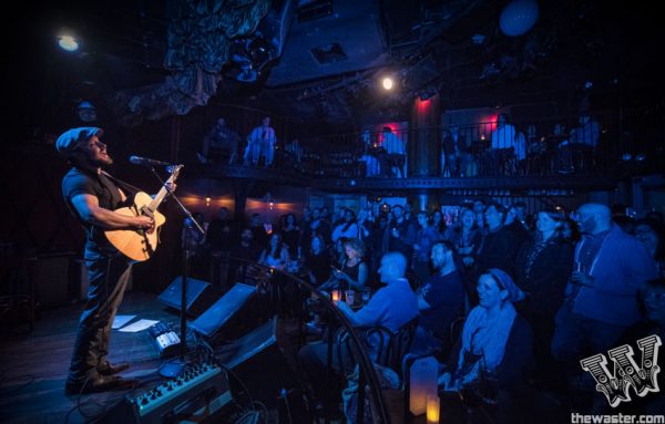
[(358, 292), (365, 290), (368, 275), (367, 263), (362, 260), (365, 247), (362, 241), (350, 238), (345, 241), (344, 249), (347, 258), (341, 265), (341, 269), (334, 269), (332, 277), (321, 286), (321, 289), (354, 290), (354, 298), (360, 300), (361, 297), (358, 296)]

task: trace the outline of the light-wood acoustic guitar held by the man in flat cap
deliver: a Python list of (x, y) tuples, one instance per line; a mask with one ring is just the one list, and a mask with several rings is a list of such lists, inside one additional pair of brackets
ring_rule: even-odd
[[(180, 174), (183, 165), (174, 165), (171, 167), (171, 176), (166, 183), (174, 183)], [(144, 229), (113, 229), (104, 231), (106, 239), (113, 247), (120, 250), (124, 256), (135, 261), (142, 262), (150, 259), (160, 242), (160, 227), (166, 223), (166, 217), (157, 211), (157, 207), (168, 194), (166, 187), (162, 187), (155, 197), (149, 194), (139, 192), (134, 196), (131, 206), (115, 209), (115, 213), (136, 217), (140, 215), (153, 218), (155, 226), (151, 230)]]

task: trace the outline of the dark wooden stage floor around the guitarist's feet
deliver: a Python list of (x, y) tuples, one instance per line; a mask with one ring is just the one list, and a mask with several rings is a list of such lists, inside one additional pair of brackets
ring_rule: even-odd
[[(83, 423), (103, 414), (126, 391), (66, 396), (64, 381), (74, 345), (76, 322), (83, 302), (41, 311), (34, 331), (17, 335), (3, 322), (0, 341), (0, 423)], [(156, 294), (127, 292), (119, 314), (178, 323), (177, 311), (157, 301)], [(133, 321), (132, 321), (133, 322)], [(137, 333), (112, 330), (111, 362), (130, 362), (123, 376), (141, 380), (143, 392), (163, 379), (162, 361), (144, 330)], [(85, 416), (83, 415), (85, 414)]]

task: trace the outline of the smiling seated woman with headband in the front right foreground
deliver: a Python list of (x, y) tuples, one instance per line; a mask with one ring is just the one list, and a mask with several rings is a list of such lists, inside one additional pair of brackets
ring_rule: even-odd
[(478, 296), (480, 303), (464, 322), (459, 354), (449, 359), (451, 372), (439, 378), (439, 385), (492, 396), (498, 412), (505, 413), (532, 362), (531, 329), (513, 307), (523, 294), (508, 273), (492, 268), (480, 276)]

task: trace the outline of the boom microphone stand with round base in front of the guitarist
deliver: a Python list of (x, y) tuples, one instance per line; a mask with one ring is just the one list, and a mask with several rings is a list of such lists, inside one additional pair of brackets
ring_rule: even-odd
[[(155, 175), (155, 177), (160, 180), (163, 187), (166, 188), (168, 195), (175, 200), (175, 203), (180, 206), (181, 210), (188, 218), (187, 223), (190, 223), (190, 228), (194, 227), (202, 236), (205, 236), (205, 230), (201, 227), (201, 225), (192, 217), (192, 213), (183, 205), (183, 203), (177, 198), (177, 196), (166, 187), (164, 180), (160, 177), (160, 174), (155, 172), (153, 166), (150, 167), (150, 170)], [(185, 368), (186, 361), (185, 355), (187, 353), (187, 313), (186, 313), (186, 304), (187, 304), (187, 277), (190, 276), (190, 259), (192, 257), (192, 252), (190, 248), (185, 246), (183, 249), (183, 267), (181, 273), (181, 349), (180, 349), (180, 358), (178, 361), (171, 361), (162, 364), (160, 366), (160, 375), (165, 379), (173, 379), (177, 376)]]

